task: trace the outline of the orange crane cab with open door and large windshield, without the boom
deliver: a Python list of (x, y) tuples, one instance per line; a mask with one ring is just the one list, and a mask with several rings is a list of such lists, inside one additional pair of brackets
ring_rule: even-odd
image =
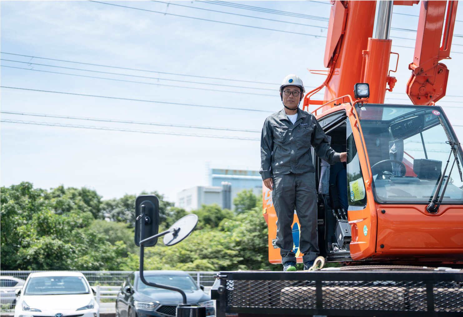
[[(442, 108), (350, 100), (316, 117), (332, 148), (347, 152), (347, 162), (334, 165), (313, 152), (320, 255), (343, 262), (463, 263), (462, 149), (451, 150), (449, 143), (458, 140)], [(438, 190), (442, 201), (429, 212), (441, 179), (447, 183)], [(269, 261), (281, 263), (265, 187), (263, 208)], [(301, 262), (294, 212), (294, 252)]]

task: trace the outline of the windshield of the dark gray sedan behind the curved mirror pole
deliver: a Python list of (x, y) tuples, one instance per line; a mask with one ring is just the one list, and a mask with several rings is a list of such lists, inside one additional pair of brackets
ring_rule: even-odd
[[(151, 283), (174, 286), (180, 288), (183, 291), (196, 291), (198, 286), (194, 283), (194, 280), (189, 275), (169, 275), (169, 274), (156, 274), (156, 275), (144, 275), (144, 278)], [(138, 277), (138, 291), (139, 292), (166, 292), (163, 288), (152, 287), (144, 284), (140, 277)]]

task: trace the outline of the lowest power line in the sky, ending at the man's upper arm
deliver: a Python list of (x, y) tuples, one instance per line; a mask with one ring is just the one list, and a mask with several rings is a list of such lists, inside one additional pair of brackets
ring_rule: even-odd
[(133, 129), (121, 129), (111, 127), (95, 127), (95, 126), (83, 126), (83, 125), (71, 125), (62, 123), (50, 123), (50, 122), (37, 122), (37, 121), (24, 121), (24, 120), (10, 120), (2, 119), (0, 122), (8, 123), (21, 123), (21, 124), (33, 124), (39, 126), (50, 126), (50, 127), (74, 127), (81, 129), (93, 129), (93, 130), (106, 130), (106, 131), (120, 131), (120, 132), (138, 132), (138, 133), (150, 133), (150, 134), (169, 134), (169, 135), (181, 135), (181, 136), (194, 136), (200, 138), (213, 138), (213, 139), (236, 139), (236, 140), (250, 140), (258, 141), (259, 138), (245, 138), (245, 137), (234, 137), (234, 136), (220, 136), (220, 135), (206, 135), (206, 134), (195, 134), (195, 133), (176, 133), (166, 131), (150, 131), (150, 130), (133, 130)]

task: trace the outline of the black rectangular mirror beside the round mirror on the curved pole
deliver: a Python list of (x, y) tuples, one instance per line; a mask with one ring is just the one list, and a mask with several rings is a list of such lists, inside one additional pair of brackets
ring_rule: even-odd
[[(140, 226), (143, 236), (140, 238)], [(135, 200), (135, 245), (140, 246), (140, 240), (157, 235), (159, 229), (159, 200), (154, 195), (141, 195)], [(145, 243), (145, 247), (156, 245), (157, 238)]]

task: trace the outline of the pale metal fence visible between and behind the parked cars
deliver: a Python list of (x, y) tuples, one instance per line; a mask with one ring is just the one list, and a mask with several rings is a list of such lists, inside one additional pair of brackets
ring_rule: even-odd
[[(29, 274), (34, 272), (47, 272), (47, 271), (0, 271), (0, 276), (13, 276), (18, 279), (27, 279)], [(48, 271), (53, 272), (53, 271)], [(119, 287), (124, 283), (127, 276), (133, 271), (79, 271), (87, 278), (88, 283), (96, 291), (95, 298), (100, 303), (101, 312), (114, 311), (114, 303), (116, 301)], [(218, 272), (198, 272), (186, 271), (196, 281), (198, 285), (203, 285), (206, 290), (214, 284), (216, 274)], [(12, 298), (12, 302), (13, 302)], [(12, 308), (13, 307), (13, 308)], [(12, 312), (13, 306), (2, 305), (2, 312)]]

